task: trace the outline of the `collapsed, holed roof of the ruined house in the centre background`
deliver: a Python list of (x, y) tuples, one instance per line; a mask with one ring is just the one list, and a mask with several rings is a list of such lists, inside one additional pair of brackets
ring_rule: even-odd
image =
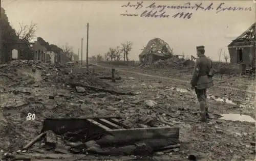
[(150, 53), (154, 53), (159, 56), (172, 56), (173, 51), (170, 49), (169, 45), (161, 40), (160, 38), (155, 38), (148, 41), (146, 47), (140, 53), (139, 57), (143, 57)]

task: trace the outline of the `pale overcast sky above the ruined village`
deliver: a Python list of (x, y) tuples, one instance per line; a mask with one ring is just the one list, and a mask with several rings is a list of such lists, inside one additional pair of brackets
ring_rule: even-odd
[[(65, 43), (73, 46), (77, 53), (80, 39), (84, 37), (83, 58), (86, 58), (87, 22), (89, 29), (89, 55), (103, 54), (109, 47), (116, 47), (122, 42), (133, 42), (130, 53), (131, 60), (138, 60), (143, 46), (153, 38), (161, 38), (174, 48), (176, 54), (196, 55), (196, 46), (204, 45), (206, 55), (218, 60), (218, 52), (222, 48), (227, 51), (227, 45), (232, 39), (247, 30), (255, 21), (255, 3), (252, 1), (212, 1), (212, 9), (202, 8), (173, 9), (146, 8), (153, 1), (144, 1), (140, 9), (121, 7), (129, 1), (35, 1), (35, 0), (2, 0), (2, 7), (13, 28), (19, 28), (19, 22), (37, 24), (36, 36), (42, 37), (50, 44), (63, 46)], [(131, 1), (136, 4), (141, 1)], [(190, 7), (202, 3), (206, 8), (211, 1), (156, 1), (158, 5)], [(222, 9), (217, 11), (218, 6)], [(188, 6), (189, 4), (186, 4)], [(228, 7), (242, 7), (244, 10), (223, 11)], [(245, 8), (251, 7), (251, 11)], [(146, 18), (140, 15), (145, 10), (165, 12), (168, 18)], [(121, 16), (125, 13), (138, 16)], [(193, 13), (191, 18), (173, 18), (178, 12)], [(218, 13), (217, 13), (218, 12)], [(80, 59), (80, 58), (79, 58)]]

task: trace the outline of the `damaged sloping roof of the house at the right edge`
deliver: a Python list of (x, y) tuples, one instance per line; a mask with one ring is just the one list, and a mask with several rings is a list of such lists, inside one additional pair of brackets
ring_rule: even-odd
[(255, 24), (253, 23), (249, 29), (243, 32), (239, 37), (234, 39), (228, 47), (231, 46), (245, 46), (245, 45), (255, 45)]

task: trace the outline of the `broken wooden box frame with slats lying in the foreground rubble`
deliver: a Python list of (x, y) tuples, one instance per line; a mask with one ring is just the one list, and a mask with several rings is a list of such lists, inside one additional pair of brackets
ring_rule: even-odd
[[(4, 155), (5, 160), (63, 157), (73, 154), (150, 155), (156, 151), (177, 149), (177, 126), (131, 128), (120, 117), (47, 118), (40, 134), (17, 151)], [(152, 127), (153, 126), (153, 127)], [(55, 154), (55, 155), (54, 155)], [(59, 154), (59, 155), (57, 155)], [(83, 155), (82, 155), (83, 154)]]

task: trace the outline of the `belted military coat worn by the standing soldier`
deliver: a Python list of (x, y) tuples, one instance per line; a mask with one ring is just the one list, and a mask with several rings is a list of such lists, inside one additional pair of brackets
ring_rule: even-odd
[(197, 89), (207, 89), (214, 86), (212, 76), (208, 76), (210, 69), (212, 68), (212, 61), (202, 55), (195, 65), (193, 76), (191, 79), (191, 86), (196, 86)]

